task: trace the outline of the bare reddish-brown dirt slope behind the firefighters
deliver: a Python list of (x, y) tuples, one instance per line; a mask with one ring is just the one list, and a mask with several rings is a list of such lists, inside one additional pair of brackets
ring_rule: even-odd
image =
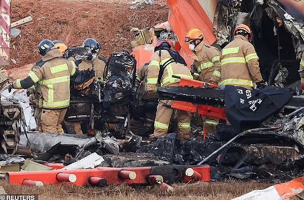
[(134, 10), (131, 5), (131, 0), (12, 0), (11, 21), (29, 15), (33, 21), (20, 27), (20, 36), (11, 40), (11, 59), (17, 63), (6, 69), (36, 62), (36, 46), (43, 39), (77, 46), (92, 37), (107, 58), (115, 51), (131, 51), (131, 28), (151, 28), (166, 21), (169, 12), (165, 0)]

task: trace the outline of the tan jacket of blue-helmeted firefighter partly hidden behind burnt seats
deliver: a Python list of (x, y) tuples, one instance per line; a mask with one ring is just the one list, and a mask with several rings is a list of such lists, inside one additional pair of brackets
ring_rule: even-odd
[[(101, 82), (103, 82), (103, 73), (105, 71), (107, 59), (98, 56), (93, 61), (94, 64), (94, 71), (96, 73), (96, 76)], [(86, 59), (83, 60), (76, 60), (75, 64), (79, 70), (87, 70), (87, 69), (92, 69), (92, 62)]]

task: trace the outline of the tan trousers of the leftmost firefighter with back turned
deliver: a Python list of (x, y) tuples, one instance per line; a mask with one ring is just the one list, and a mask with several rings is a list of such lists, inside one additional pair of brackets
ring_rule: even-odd
[(41, 123), (43, 132), (64, 134), (61, 123), (64, 121), (66, 110), (67, 108), (42, 109)]

